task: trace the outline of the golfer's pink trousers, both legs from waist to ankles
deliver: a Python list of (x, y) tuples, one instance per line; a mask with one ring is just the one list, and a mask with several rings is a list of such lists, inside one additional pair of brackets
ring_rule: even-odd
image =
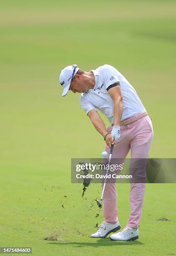
[[(112, 128), (113, 126), (108, 127), (107, 132), (110, 133)], [(148, 115), (127, 126), (120, 126), (120, 139), (114, 146), (112, 158), (126, 158), (129, 151), (131, 151), (131, 158), (148, 158), (152, 138), (153, 127)], [(109, 153), (110, 148), (106, 146), (105, 151)], [(138, 228), (142, 215), (145, 183), (131, 183), (130, 186), (130, 217), (127, 225), (131, 228)], [(115, 183), (106, 184), (103, 197), (103, 216), (107, 223), (117, 222)]]

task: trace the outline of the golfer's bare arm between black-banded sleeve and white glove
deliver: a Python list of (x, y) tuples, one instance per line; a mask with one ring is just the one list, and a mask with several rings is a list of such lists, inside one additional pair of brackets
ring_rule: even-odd
[(112, 87), (108, 90), (108, 92), (114, 101), (114, 125), (120, 125), (123, 111), (123, 97), (120, 86)]

